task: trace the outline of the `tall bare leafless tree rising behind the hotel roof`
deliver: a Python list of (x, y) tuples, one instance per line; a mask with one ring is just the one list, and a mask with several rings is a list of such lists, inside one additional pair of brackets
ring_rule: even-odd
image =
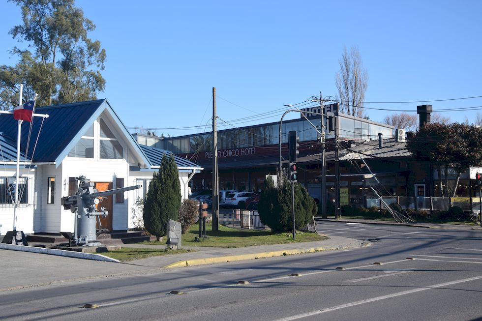
[(366, 117), (363, 101), (368, 86), (368, 72), (363, 67), (358, 47), (352, 47), (350, 52), (345, 48), (339, 63), (340, 71), (335, 75), (339, 111), (356, 117)]

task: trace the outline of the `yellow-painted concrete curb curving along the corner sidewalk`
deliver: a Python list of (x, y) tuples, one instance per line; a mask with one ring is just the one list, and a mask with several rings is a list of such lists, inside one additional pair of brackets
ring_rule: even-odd
[[(362, 243), (361, 247), (363, 246), (370, 246), (371, 243), (366, 242)], [(233, 262), (233, 261), (244, 261), (244, 260), (253, 260), (253, 259), (263, 259), (263, 258), (271, 258), (271, 257), (278, 257), (284, 255), (293, 255), (293, 254), (302, 254), (302, 253), (313, 253), (313, 252), (320, 252), (320, 251), (336, 251), (336, 250), (346, 250), (349, 248), (353, 248), (352, 246), (321, 246), (321, 247), (312, 247), (312, 248), (305, 248), (305, 249), (292, 249), (292, 250), (279, 250), (279, 251), (272, 251), (272, 252), (260, 252), (260, 253), (250, 253), (250, 254), (239, 254), (239, 255), (227, 255), (222, 257), (211, 257), (211, 258), (204, 258), (204, 259), (192, 259), (192, 260), (183, 260), (178, 261), (175, 263), (171, 263), (168, 265), (163, 266), (164, 268), (172, 268), (172, 267), (184, 267), (184, 266), (194, 266), (194, 265), (204, 265), (204, 264), (212, 264), (212, 263), (224, 263), (224, 262)]]

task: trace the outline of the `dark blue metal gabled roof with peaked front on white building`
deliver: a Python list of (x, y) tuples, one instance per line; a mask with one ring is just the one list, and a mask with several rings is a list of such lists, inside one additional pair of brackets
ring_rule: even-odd
[[(27, 157), (32, 158), (34, 163), (55, 162), (59, 166), (69, 151), (77, 144), (82, 135), (89, 129), (91, 124), (102, 112), (109, 111), (114, 121), (119, 126), (124, 139), (137, 152), (139, 158), (147, 167), (150, 163), (142, 152), (137, 142), (132, 138), (121, 119), (114, 112), (106, 99), (84, 101), (71, 104), (62, 104), (48, 107), (37, 107), (35, 113), (48, 114), (48, 118), (34, 117), (31, 123), (24, 122), (22, 125), (21, 151), (27, 149), (30, 124), (32, 126), (31, 142), (32, 146), (38, 136), (35, 153), (32, 157), (32, 147), (29, 147)], [(12, 115), (0, 115), (0, 128), (2, 135), (11, 141), (17, 140), (17, 121)], [(15, 148), (16, 152), (16, 148)]]

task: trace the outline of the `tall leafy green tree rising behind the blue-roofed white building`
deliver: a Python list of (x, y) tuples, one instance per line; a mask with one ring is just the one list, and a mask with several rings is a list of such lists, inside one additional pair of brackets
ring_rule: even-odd
[(100, 71), (106, 53), (88, 38), (95, 25), (82, 9), (74, 0), (10, 1), (20, 6), (22, 23), (9, 33), (33, 51), (15, 47), (17, 64), (0, 66), (0, 108), (18, 104), (20, 84), (25, 100), (38, 93), (38, 106), (95, 99), (105, 88)]

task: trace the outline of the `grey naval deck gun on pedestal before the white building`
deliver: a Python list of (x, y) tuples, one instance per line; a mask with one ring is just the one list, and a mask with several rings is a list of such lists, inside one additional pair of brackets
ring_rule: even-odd
[[(62, 197), (61, 204), (64, 209), (70, 209), (75, 214), (74, 235), (72, 241), (74, 245), (96, 246), (100, 245), (95, 233), (97, 217), (106, 217), (109, 212), (103, 207), (100, 211), (96, 210), (95, 205), (102, 202), (100, 197), (114, 195), (141, 188), (142, 185), (115, 188), (108, 191), (99, 192), (94, 188), (94, 183), (85, 176), (76, 177), (80, 181), (77, 194)], [(69, 244), (71, 242), (69, 241)]]

